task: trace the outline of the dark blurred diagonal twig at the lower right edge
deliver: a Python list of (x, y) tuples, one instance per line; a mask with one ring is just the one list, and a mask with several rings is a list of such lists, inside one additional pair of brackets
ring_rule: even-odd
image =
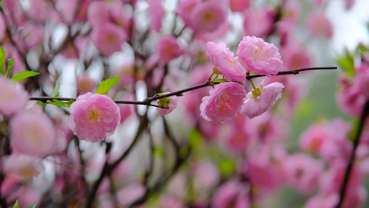
[(359, 146), (361, 132), (363, 132), (363, 126), (365, 124), (366, 117), (369, 115), (369, 100), (366, 101), (363, 107), (363, 113), (361, 114), (359, 128), (357, 129), (355, 138), (354, 138), (354, 148), (352, 148), (350, 161), (348, 162), (348, 167), (345, 171), (345, 176), (343, 177), (343, 182), (341, 185), (341, 191), (339, 193), (339, 203), (337, 204), (336, 208), (340, 208), (343, 204), (343, 200), (345, 200), (345, 193), (348, 187), (348, 182), (350, 180), (350, 174), (352, 171), (352, 167), (354, 166), (354, 160), (356, 155), (357, 146)]

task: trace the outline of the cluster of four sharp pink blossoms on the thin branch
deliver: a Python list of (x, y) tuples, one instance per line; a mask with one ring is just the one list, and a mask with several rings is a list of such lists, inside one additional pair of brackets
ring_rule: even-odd
[[(215, 67), (214, 73), (222, 75), (228, 82), (236, 82), (220, 83), (210, 90), (210, 96), (202, 99), (201, 116), (207, 121), (224, 123), (239, 113), (252, 119), (269, 110), (282, 96), (282, 83), (260, 87), (253, 85), (247, 96), (245, 88), (240, 84), (246, 80), (246, 69), (266, 76), (276, 75), (282, 69), (281, 56), (274, 44), (264, 42), (259, 37), (245, 36), (238, 45), (238, 57), (234, 57), (233, 52), (223, 43), (208, 42), (207, 48), (208, 58)], [(239, 58), (246, 69), (238, 62)]]

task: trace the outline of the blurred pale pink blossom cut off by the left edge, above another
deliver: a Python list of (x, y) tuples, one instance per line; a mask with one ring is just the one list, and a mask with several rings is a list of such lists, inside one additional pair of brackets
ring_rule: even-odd
[(10, 115), (23, 110), (28, 101), (24, 89), (0, 76), (0, 114)]

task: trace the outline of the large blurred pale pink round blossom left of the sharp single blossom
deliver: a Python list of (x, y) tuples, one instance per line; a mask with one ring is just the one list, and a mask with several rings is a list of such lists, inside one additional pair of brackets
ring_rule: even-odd
[(10, 146), (15, 153), (48, 157), (53, 153), (56, 130), (44, 113), (21, 112), (10, 120)]

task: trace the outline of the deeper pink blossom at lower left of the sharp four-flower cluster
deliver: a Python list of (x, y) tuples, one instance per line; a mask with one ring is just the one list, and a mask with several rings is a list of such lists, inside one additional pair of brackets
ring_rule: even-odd
[(224, 123), (241, 111), (246, 90), (238, 83), (220, 83), (210, 89), (210, 96), (202, 98), (201, 116), (207, 121)]

